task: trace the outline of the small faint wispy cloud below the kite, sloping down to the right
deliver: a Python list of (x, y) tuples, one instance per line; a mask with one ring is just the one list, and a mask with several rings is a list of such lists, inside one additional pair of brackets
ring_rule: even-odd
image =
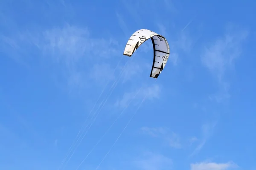
[(176, 133), (170, 131), (168, 128), (142, 127), (141, 131), (146, 135), (159, 137), (170, 147), (181, 148), (179, 136)]

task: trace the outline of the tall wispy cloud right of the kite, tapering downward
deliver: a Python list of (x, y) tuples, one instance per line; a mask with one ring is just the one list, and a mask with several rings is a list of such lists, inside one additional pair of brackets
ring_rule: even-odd
[(211, 99), (220, 102), (230, 97), (230, 85), (226, 76), (228, 71), (233, 69), (235, 59), (241, 56), (242, 44), (248, 34), (249, 32), (245, 29), (229, 25), (223, 37), (204, 47), (201, 62), (217, 78), (220, 85), (220, 92), (210, 96)]

